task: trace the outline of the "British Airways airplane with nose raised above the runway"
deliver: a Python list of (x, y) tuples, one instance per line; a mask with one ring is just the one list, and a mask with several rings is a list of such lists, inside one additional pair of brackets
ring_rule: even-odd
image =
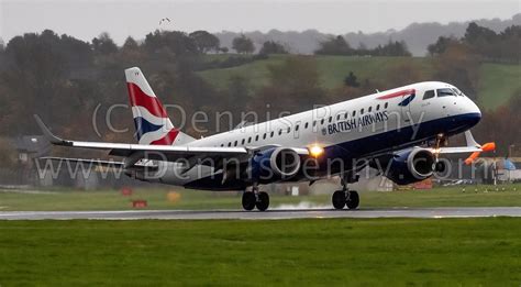
[[(106, 150), (123, 161), (43, 158), (123, 168), (140, 180), (188, 189), (241, 190), (245, 210), (265, 211), (269, 196), (260, 185), (339, 176), (333, 207), (357, 209), (358, 192), (348, 185), (367, 166), (407, 185), (446, 170), (445, 154), (484, 151), (469, 131), (481, 119), (479, 108), (446, 82), (377, 91), (196, 140), (174, 126), (140, 68), (125, 69), (125, 78), (137, 144), (63, 140), (35, 115), (52, 144)], [(459, 133), (467, 145), (446, 146)]]

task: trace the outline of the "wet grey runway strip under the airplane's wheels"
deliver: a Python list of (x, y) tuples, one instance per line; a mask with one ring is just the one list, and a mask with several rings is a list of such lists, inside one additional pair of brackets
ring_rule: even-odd
[(296, 210), (122, 210), (122, 211), (1, 211), (0, 220), (282, 220), (310, 218), (486, 218), (521, 217), (521, 207), (494, 208), (391, 208), (391, 209), (296, 209)]

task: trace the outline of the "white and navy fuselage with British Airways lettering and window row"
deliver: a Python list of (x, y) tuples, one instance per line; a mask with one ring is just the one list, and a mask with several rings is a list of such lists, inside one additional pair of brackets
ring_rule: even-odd
[[(413, 146), (439, 133), (461, 133), (479, 121), (480, 111), (470, 99), (462, 93), (436, 95), (436, 90), (442, 89), (458, 92), (445, 82), (413, 84), (219, 133), (186, 145), (304, 148), (320, 145), (326, 151), (324, 156), (363, 158)], [(431, 90), (434, 97), (424, 97)], [(211, 167), (196, 166), (179, 174), (175, 169), (181, 167), (176, 163), (162, 164), (168, 168), (159, 181), (171, 185), (185, 186), (219, 173)]]

